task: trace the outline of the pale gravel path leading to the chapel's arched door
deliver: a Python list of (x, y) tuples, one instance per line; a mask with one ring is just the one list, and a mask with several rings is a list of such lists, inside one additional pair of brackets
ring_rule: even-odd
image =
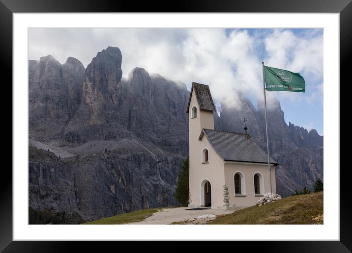
[[(147, 219), (129, 224), (171, 224), (173, 222), (181, 222), (192, 220), (190, 223), (202, 223), (214, 219), (218, 215), (229, 214), (234, 210), (221, 209), (203, 209), (203, 210), (186, 210), (190, 207), (166, 208), (154, 213)], [(201, 217), (200, 217), (201, 216)], [(196, 218), (198, 217), (198, 218)]]

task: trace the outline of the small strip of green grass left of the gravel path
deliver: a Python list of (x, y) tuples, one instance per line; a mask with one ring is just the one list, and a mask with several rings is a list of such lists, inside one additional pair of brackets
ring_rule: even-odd
[(126, 224), (131, 222), (139, 222), (151, 216), (153, 213), (160, 211), (161, 209), (163, 208), (142, 209), (134, 212), (117, 214), (112, 217), (103, 218), (100, 220), (87, 222), (84, 224), (105, 225), (105, 224)]

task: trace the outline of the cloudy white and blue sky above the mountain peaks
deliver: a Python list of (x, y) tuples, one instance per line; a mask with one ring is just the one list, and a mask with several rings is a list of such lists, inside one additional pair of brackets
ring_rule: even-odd
[(267, 108), (276, 97), (287, 124), (323, 135), (323, 29), (223, 28), (29, 28), (29, 59), (67, 57), (85, 67), (109, 46), (122, 52), (122, 76), (136, 67), (181, 81), (210, 86), (220, 101), (238, 106), (238, 91), (255, 107), (264, 99), (264, 65), (300, 73), (302, 92), (266, 92)]

